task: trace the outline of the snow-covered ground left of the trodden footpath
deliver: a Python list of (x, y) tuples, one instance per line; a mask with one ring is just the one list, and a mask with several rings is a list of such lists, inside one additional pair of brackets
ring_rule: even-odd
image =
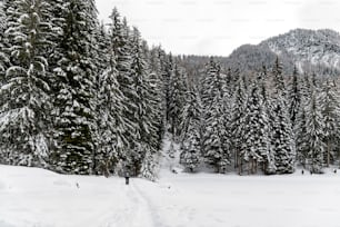
[(158, 227), (139, 181), (0, 165), (0, 227)]

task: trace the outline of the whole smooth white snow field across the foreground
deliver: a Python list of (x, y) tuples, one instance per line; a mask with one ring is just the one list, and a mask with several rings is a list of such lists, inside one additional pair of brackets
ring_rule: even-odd
[(159, 182), (0, 166), (0, 227), (339, 227), (340, 175), (171, 174)]

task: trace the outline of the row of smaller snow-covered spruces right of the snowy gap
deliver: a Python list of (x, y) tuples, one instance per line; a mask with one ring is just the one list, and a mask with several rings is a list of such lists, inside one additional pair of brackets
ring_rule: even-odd
[[(339, 89), (334, 77), (270, 69), (223, 70), (212, 58), (183, 108), (181, 164), (217, 172), (311, 172), (339, 164)], [(199, 120), (198, 120), (199, 119)]]

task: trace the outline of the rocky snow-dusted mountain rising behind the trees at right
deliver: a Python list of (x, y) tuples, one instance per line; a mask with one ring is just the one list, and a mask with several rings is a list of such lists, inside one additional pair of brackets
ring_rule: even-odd
[(241, 65), (242, 68), (253, 70), (262, 63), (272, 66), (277, 55), (287, 72), (291, 72), (294, 65), (300, 72), (340, 71), (340, 34), (329, 29), (294, 29), (257, 46), (241, 46), (226, 61), (231, 67)]

